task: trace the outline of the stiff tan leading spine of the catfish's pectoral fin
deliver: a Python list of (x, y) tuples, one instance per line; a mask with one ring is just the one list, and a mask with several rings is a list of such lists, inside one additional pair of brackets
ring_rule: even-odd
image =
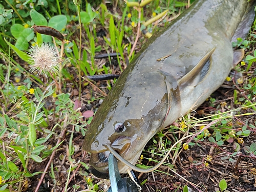
[[(179, 86), (184, 86), (184, 84), (190, 83), (193, 81), (201, 72), (203, 67), (206, 65), (212, 53), (214, 53), (216, 48), (211, 49), (198, 63), (197, 65), (189, 71), (185, 76), (178, 80)], [(208, 67), (209, 68), (209, 67)], [(204, 75), (206, 72), (204, 72)], [(200, 78), (202, 79), (202, 78)]]

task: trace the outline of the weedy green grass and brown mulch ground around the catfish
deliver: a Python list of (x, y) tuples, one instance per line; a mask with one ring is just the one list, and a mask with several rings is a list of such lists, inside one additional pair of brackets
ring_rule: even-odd
[[(86, 76), (121, 74), (127, 58), (147, 40), (140, 31), (161, 30), (193, 1), (153, 1), (142, 9), (122, 1), (74, 3), (1, 3), (0, 191), (106, 190), (109, 181), (89, 174), (90, 154), (81, 146), (94, 112), (116, 80)], [(48, 27), (31, 29), (33, 25)], [(234, 44), (245, 48), (246, 59), (197, 113), (177, 120), (146, 145), (138, 166), (154, 166), (172, 143), (203, 130), (187, 141), (187, 150), (170, 153), (158, 171), (136, 173), (143, 191), (183, 191), (185, 185), (201, 191), (224, 191), (226, 185), (229, 191), (256, 190), (255, 38), (253, 26), (247, 40)], [(58, 51), (52, 53), (48, 46), (41, 51), (37, 45), (42, 42)], [(116, 52), (117, 57), (95, 58)], [(242, 77), (234, 78), (236, 73)]]

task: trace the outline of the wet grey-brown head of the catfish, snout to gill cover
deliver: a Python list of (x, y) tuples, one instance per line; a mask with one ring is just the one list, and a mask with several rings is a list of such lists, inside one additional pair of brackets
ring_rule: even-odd
[[(118, 79), (84, 138), (83, 149), (91, 153), (90, 164), (98, 172), (108, 173), (110, 152), (106, 145), (135, 164), (146, 143), (163, 128), (169, 108), (170, 97), (161, 73)], [(129, 167), (118, 161), (118, 168), (126, 173)]]

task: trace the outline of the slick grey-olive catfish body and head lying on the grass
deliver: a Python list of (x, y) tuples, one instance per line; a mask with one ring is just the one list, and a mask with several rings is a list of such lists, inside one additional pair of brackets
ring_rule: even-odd
[[(243, 15), (251, 13), (250, 6), (247, 0), (199, 0), (148, 40), (104, 99), (86, 133), (83, 149), (91, 153), (95, 169), (108, 173), (107, 143), (135, 164), (158, 131), (198, 108), (221, 86), (232, 68), (231, 38), (239, 35), (236, 29)], [(251, 22), (252, 14), (243, 22)], [(120, 133), (114, 130), (116, 122), (124, 124)], [(118, 162), (118, 168), (126, 173), (128, 167)]]

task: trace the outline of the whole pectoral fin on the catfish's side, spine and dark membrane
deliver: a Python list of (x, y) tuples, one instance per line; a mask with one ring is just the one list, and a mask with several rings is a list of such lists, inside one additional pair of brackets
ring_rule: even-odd
[(191, 71), (178, 80), (179, 86), (187, 86), (188, 84), (196, 86), (202, 81), (210, 69), (210, 56), (214, 53), (215, 49), (211, 49)]

